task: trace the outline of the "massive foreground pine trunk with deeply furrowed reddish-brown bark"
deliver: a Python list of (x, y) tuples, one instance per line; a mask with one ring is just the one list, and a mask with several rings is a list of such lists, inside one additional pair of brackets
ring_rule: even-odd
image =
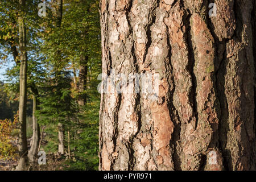
[(100, 170), (256, 169), (255, 1), (212, 2), (101, 0), (103, 75), (159, 85), (101, 87)]

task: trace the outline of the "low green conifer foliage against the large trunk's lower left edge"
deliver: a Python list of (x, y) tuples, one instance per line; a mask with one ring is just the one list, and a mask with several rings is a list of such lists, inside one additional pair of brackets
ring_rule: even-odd
[(69, 160), (68, 170), (97, 170), (98, 169), (98, 110), (100, 102), (86, 104), (82, 118), (84, 123), (78, 126), (79, 139), (75, 140), (75, 157)]

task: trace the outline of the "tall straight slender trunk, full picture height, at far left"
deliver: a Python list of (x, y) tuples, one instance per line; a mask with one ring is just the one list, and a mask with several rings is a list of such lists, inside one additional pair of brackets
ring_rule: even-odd
[(20, 49), (20, 71), (19, 71), (19, 162), (16, 170), (26, 169), (27, 163), (27, 51), (26, 51), (26, 26), (24, 23), (24, 12), (26, 2), (19, 0), (19, 49)]

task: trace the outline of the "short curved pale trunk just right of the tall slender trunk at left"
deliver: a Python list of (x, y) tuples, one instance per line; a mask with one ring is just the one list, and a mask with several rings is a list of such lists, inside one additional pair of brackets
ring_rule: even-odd
[(40, 139), (40, 129), (39, 129), (36, 115), (35, 115), (37, 107), (38, 107), (38, 98), (36, 94), (33, 94), (33, 110), (32, 110), (33, 135), (32, 135), (30, 150), (28, 151), (28, 159), (30, 160), (30, 162), (34, 162), (36, 160), (38, 146), (39, 146), (39, 139)]

